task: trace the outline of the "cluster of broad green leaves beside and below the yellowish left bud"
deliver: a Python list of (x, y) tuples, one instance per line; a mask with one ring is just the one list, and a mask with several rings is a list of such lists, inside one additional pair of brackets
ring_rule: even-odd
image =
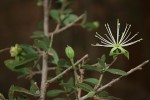
[(4, 64), (12, 71), (16, 71), (22, 74), (31, 73), (31, 68), (26, 67), (27, 64), (37, 59), (37, 52), (29, 45), (20, 45), (22, 53), (24, 55), (16, 55), (14, 59), (7, 59)]

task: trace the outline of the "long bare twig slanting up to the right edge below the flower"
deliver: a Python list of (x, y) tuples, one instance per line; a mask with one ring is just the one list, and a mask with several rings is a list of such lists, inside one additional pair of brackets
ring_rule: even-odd
[[(116, 79), (113, 79), (112, 81), (110, 81), (110, 82), (107, 83), (106, 85), (104, 85), (104, 86), (100, 87), (99, 89), (97, 89), (97, 90), (95, 91), (95, 93), (101, 92), (102, 90), (104, 90), (104, 89), (106, 89), (106, 88), (112, 86), (114, 83), (118, 82), (118, 81), (119, 81), (120, 79), (122, 79), (123, 77), (130, 75), (131, 73), (133, 73), (133, 72), (135, 72), (135, 71), (137, 71), (137, 70), (141, 70), (142, 67), (143, 67), (144, 65), (146, 65), (148, 62), (149, 62), (149, 60), (144, 61), (144, 62), (141, 63), (140, 65), (138, 65), (138, 66), (136, 66), (135, 68), (133, 68), (133, 69), (131, 69), (130, 71), (128, 71), (126, 75), (123, 75), (123, 76), (120, 76), (120, 77), (118, 77), (118, 78), (116, 78)], [(88, 95), (84, 95), (84, 96), (81, 97), (79, 100), (85, 100), (85, 99), (87, 99), (87, 98), (88, 98)]]

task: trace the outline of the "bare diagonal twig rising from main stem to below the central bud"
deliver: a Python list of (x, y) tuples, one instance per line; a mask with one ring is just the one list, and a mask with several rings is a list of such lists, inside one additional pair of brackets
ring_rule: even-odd
[[(76, 66), (77, 64), (79, 64), (82, 60), (84, 60), (85, 58), (87, 58), (88, 55), (86, 54), (85, 56), (83, 56), (81, 59), (79, 59), (74, 65)], [(64, 74), (66, 74), (69, 70), (71, 70), (73, 68), (73, 66), (70, 66), (69, 68), (67, 68), (66, 70), (64, 70), (62, 73), (58, 74), (57, 76), (55, 76), (54, 78), (50, 79), (47, 81), (47, 85), (54, 82), (55, 80), (57, 80), (59, 77), (63, 76)]]

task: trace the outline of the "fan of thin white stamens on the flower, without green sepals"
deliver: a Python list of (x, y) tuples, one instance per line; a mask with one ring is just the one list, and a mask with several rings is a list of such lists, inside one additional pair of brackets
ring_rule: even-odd
[(107, 32), (108, 32), (108, 34), (105, 34), (106, 39), (96, 32), (95, 37), (97, 37), (98, 39), (101, 40), (101, 44), (96, 43), (95, 45), (92, 44), (92, 46), (125, 47), (125, 46), (135, 44), (137, 42), (140, 42), (142, 40), (142, 39), (138, 39), (136, 41), (131, 41), (138, 35), (138, 33), (136, 33), (135, 35), (130, 37), (131, 32), (129, 32), (129, 29), (130, 29), (131, 25), (129, 25), (129, 24), (126, 24), (124, 32), (122, 34), (120, 34), (120, 32), (119, 32), (119, 30), (120, 30), (119, 20), (117, 20), (117, 37), (116, 37), (116, 39), (114, 38), (114, 36), (110, 30), (109, 24), (105, 24), (105, 27), (106, 27)]

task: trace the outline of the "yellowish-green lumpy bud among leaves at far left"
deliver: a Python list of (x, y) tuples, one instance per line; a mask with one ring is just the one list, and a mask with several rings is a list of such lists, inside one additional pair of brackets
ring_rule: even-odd
[(16, 44), (15, 46), (10, 48), (10, 55), (11, 57), (16, 57), (22, 51), (22, 48)]

